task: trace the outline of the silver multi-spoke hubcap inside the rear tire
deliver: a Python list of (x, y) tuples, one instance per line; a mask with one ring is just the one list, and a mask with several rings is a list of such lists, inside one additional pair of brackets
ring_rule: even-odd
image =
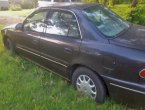
[(80, 75), (76, 81), (77, 90), (96, 99), (97, 89), (94, 81), (87, 75)]

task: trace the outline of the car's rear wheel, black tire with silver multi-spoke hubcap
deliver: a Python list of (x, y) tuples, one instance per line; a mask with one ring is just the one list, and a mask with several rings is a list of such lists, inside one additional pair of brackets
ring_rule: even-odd
[(106, 87), (102, 80), (93, 71), (85, 67), (79, 67), (74, 71), (72, 85), (97, 103), (103, 103), (107, 96)]

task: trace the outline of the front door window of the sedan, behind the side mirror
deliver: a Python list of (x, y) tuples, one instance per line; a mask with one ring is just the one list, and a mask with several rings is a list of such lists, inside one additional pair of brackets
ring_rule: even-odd
[(44, 21), (47, 15), (47, 11), (40, 11), (30, 15), (25, 24), (24, 30), (25, 31), (36, 31), (36, 32), (43, 32), (44, 31)]

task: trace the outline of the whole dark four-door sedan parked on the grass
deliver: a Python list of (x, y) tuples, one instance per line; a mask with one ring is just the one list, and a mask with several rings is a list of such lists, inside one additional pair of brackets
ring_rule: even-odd
[[(145, 102), (145, 27), (100, 4), (36, 9), (5, 27), (4, 46), (61, 75), (98, 103)], [(66, 88), (67, 89), (67, 88)]]

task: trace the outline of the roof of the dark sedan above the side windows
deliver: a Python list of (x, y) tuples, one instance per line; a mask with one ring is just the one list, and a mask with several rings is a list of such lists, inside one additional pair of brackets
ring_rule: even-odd
[(47, 7), (40, 7), (39, 9), (50, 9), (50, 8), (62, 8), (62, 9), (79, 9), (83, 10), (85, 8), (96, 6), (97, 3), (55, 3)]

